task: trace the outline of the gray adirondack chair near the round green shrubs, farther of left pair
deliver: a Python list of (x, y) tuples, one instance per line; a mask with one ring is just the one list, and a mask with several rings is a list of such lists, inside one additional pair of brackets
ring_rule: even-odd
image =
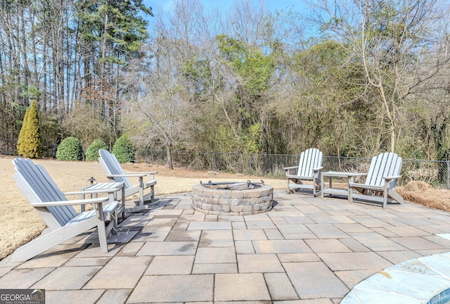
[[(150, 202), (155, 200), (155, 174), (158, 172), (124, 172), (119, 161), (113, 153), (100, 149), (98, 151), (100, 157), (98, 162), (100, 163), (103, 172), (111, 182), (124, 182), (125, 184), (125, 197), (139, 193), (139, 205), (142, 206), (144, 202), (143, 191), (150, 188)], [(150, 180), (144, 182), (143, 178), (150, 175)], [(128, 177), (138, 177), (139, 184), (132, 185)]]

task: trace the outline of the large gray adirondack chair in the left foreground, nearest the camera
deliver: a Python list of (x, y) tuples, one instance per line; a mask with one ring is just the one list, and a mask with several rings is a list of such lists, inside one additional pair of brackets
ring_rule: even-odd
[[(106, 238), (117, 232), (117, 201), (108, 203), (108, 197), (68, 201), (44, 167), (24, 158), (15, 158), (13, 164), (16, 185), (48, 227), (36, 239), (14, 251), (11, 257), (14, 262), (30, 260), (94, 227), (98, 229), (101, 252), (108, 252)], [(94, 210), (78, 214), (72, 207), (86, 203), (94, 204)], [(110, 222), (106, 225), (108, 220)]]

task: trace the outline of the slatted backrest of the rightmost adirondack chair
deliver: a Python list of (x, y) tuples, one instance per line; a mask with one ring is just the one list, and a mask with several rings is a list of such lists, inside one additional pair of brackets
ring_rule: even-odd
[[(400, 175), (400, 171), (401, 157), (392, 152), (380, 153), (372, 158), (365, 184), (368, 186), (383, 186), (385, 183), (383, 177)], [(396, 184), (396, 182), (393, 182), (390, 189), (394, 189)]]

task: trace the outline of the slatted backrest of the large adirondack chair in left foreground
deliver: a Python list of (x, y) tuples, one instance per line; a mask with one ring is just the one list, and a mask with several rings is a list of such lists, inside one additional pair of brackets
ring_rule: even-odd
[[(13, 164), (17, 172), (14, 175), (15, 181), (30, 203), (67, 201), (63, 192), (60, 191), (44, 167), (34, 165), (31, 160), (25, 158), (15, 158)], [(39, 210), (39, 215), (50, 229), (62, 227), (77, 216), (77, 211), (71, 205), (37, 208), (37, 210)]]

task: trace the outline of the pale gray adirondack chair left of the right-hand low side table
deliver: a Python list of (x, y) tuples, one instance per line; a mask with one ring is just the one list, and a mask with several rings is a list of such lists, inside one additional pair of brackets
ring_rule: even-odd
[[(309, 148), (300, 154), (299, 165), (285, 167), (285, 175), (288, 179), (288, 193), (291, 189), (309, 189), (316, 196), (316, 185), (321, 186), (321, 170), (323, 153), (317, 148)], [(295, 172), (295, 173), (294, 173)], [(311, 181), (312, 185), (303, 181)]]

